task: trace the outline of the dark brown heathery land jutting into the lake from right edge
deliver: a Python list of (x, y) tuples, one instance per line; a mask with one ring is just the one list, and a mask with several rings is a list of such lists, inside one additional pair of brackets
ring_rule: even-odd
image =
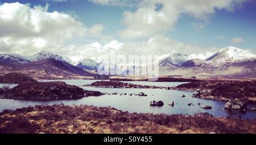
[(256, 103), (256, 81), (214, 81), (214, 82), (191, 82), (172, 87), (179, 91), (197, 92), (193, 97), (201, 99), (229, 101), (232, 99)]

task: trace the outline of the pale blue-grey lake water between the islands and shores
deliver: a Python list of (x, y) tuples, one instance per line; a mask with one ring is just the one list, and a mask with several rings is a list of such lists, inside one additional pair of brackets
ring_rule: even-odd
[[(53, 80), (39, 80), (41, 82), (48, 82)], [(56, 80), (54, 80), (56, 81)], [(59, 80), (66, 82), (67, 84), (72, 84), (76, 86), (82, 86), (84, 84), (90, 84), (93, 82), (97, 82), (98, 80)], [(177, 86), (182, 83), (174, 83), (174, 82), (129, 82), (134, 84), (142, 84), (149, 86)], [(0, 87), (3, 84), (0, 84)], [(12, 84), (12, 86), (15, 86)], [(137, 112), (137, 113), (166, 113), (166, 114), (196, 114), (200, 112), (207, 112), (216, 117), (238, 117), (242, 118), (256, 118), (255, 112), (230, 112), (228, 110), (223, 110), (225, 103), (222, 101), (214, 101), (214, 100), (204, 100), (189, 97), (193, 92), (186, 91), (174, 91), (174, 90), (166, 90), (166, 89), (141, 89), (141, 88), (94, 88), (94, 87), (82, 87), (84, 89), (92, 90), (92, 91), (101, 91), (103, 93), (127, 93), (127, 94), (137, 94), (139, 92), (144, 92), (148, 96), (129, 96), (129, 95), (104, 95), (100, 97), (85, 97), (80, 100), (63, 100), (63, 101), (22, 101), (22, 100), (7, 100), (0, 99), (0, 111), (4, 109), (17, 109), (26, 106), (34, 106), (34, 105), (52, 105), (52, 104), (60, 104), (63, 103), (65, 105), (94, 105), (94, 106), (113, 106), (116, 109), (128, 112)], [(180, 97), (181, 95), (185, 95), (186, 97)], [(150, 101), (163, 101), (164, 106), (162, 107), (153, 107), (150, 106)], [(174, 107), (169, 106), (168, 104), (174, 101)], [(194, 105), (188, 106), (189, 103)], [(210, 105), (213, 109), (205, 110), (201, 109), (198, 103), (203, 105)], [(256, 105), (249, 105), (247, 108), (256, 107)]]

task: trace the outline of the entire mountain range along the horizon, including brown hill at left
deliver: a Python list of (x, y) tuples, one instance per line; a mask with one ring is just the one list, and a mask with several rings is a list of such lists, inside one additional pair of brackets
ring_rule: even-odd
[[(109, 62), (96, 62), (85, 58), (76, 66), (71, 65), (66, 57), (49, 52), (40, 52), (33, 56), (19, 54), (0, 54), (0, 74), (7, 72), (23, 72), (32, 74), (34, 78), (83, 78), (96, 76), (98, 68), (103, 67), (118, 74), (131, 72), (127, 70), (130, 65), (134, 69), (144, 66), (133, 64), (115, 65)], [(159, 72), (163, 75), (179, 75), (186, 78), (255, 78), (256, 55), (246, 50), (228, 46), (221, 49), (207, 59), (191, 59), (189, 55), (170, 53), (160, 56), (155, 62), (159, 64)], [(94, 71), (94, 72), (93, 72)], [(96, 72), (96, 73), (95, 73)]]

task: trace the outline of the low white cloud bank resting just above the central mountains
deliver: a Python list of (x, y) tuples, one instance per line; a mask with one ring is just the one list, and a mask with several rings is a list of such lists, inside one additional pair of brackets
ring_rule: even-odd
[(191, 59), (206, 59), (218, 50), (220, 49), (205, 49), (200, 46), (185, 45), (181, 42), (171, 40), (164, 35), (156, 35), (146, 41), (130, 42), (127, 44), (113, 40), (104, 45), (98, 42), (80, 46), (69, 45), (67, 48), (63, 48), (62, 51), (67, 52), (67, 57), (70, 57), (73, 62), (77, 62), (84, 58), (92, 58), (100, 61), (102, 57), (113, 57), (111, 56), (112, 52), (117, 56), (125, 56), (127, 58), (129, 55), (162, 56), (168, 53), (181, 53), (188, 54)]

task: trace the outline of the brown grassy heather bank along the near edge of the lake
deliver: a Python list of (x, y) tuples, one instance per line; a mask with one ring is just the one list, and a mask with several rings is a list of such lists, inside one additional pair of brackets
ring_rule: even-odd
[(35, 106), (0, 113), (0, 133), (256, 133), (256, 120), (138, 114), (110, 107)]

